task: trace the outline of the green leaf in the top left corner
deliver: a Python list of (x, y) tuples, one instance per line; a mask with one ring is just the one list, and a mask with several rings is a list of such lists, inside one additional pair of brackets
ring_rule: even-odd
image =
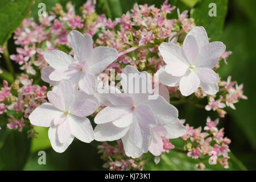
[(0, 1), (0, 45), (3, 45), (20, 26), (23, 18), (29, 13), (31, 5), (32, 0)]

